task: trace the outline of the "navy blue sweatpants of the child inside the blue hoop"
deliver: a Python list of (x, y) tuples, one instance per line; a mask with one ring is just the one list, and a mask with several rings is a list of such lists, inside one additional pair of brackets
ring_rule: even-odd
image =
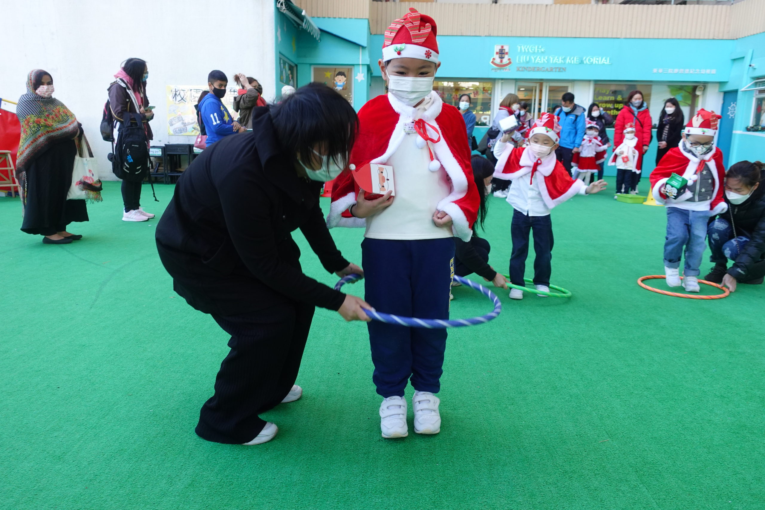
[[(364, 239), (364, 300), (375, 310), (421, 319), (449, 318), (454, 239)], [(437, 393), (443, 373), (446, 330), (428, 330), (377, 321), (368, 323), (375, 371), (383, 398), (415, 391)]]

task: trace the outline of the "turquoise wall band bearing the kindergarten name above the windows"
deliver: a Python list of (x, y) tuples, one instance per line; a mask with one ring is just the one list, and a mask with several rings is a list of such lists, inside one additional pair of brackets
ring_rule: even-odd
[[(438, 75), (504, 80), (721, 82), (728, 81), (734, 42), (693, 41), (692, 50), (686, 51), (688, 41), (682, 39), (446, 35), (438, 37)], [(497, 70), (490, 64), (496, 44), (509, 46), (513, 64), (506, 69)], [(369, 53), (373, 61), (382, 57), (382, 35), (371, 37)], [(596, 58), (603, 63), (587, 63)], [(665, 72), (670, 69), (683, 72)], [(698, 73), (686, 74), (685, 70)], [(379, 69), (373, 73), (379, 76)]]

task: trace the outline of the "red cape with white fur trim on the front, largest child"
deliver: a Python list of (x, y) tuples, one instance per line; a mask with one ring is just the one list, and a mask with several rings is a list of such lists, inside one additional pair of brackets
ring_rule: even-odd
[[(444, 105), (438, 93), (431, 93), (433, 102), (422, 113), (422, 119), (441, 133), (438, 143), (431, 143), (435, 159), (451, 180), (451, 193), (438, 203), (438, 210), (451, 216), (454, 236), (464, 241), (473, 235), (473, 223), (478, 214), (480, 197), (470, 166), (470, 146), (465, 122), (459, 110)], [(399, 148), (406, 133), (404, 124), (416, 118), (417, 111), (391, 95), (370, 99), (359, 111), (359, 133), (350, 153), (350, 164), (361, 167), (367, 163), (385, 164)], [(438, 137), (434, 137), (438, 138)], [(396, 169), (393, 169), (395, 174)], [(354, 218), (348, 208), (356, 203), (359, 187), (349, 170), (343, 171), (332, 185), (332, 203), (327, 226), (363, 227), (364, 219)], [(435, 211), (434, 211), (435, 212)]]

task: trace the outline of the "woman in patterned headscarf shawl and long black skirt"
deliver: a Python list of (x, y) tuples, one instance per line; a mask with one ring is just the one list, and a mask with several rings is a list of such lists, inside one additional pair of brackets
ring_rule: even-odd
[(53, 92), (50, 73), (29, 73), (27, 93), (16, 106), (21, 122), (16, 172), (24, 203), (21, 230), (45, 236), (45, 244), (63, 245), (82, 239), (67, 232), (67, 225), (88, 221), (88, 212), (85, 200), (67, 200), (80, 123), (63, 102), (51, 97)]

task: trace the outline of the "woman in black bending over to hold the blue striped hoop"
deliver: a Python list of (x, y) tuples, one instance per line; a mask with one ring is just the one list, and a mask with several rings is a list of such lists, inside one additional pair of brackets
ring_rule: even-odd
[(319, 206), (321, 181), (346, 166), (356, 112), (311, 84), (254, 112), (252, 124), (190, 164), (157, 226), (174, 290), (231, 335), (196, 432), (248, 445), (278, 430), (259, 414), (302, 394), (294, 384), (314, 307), (345, 320), (369, 320), (363, 308), (371, 308), (303, 274), (290, 234), (301, 229), (327, 271), (363, 274), (340, 255)]

